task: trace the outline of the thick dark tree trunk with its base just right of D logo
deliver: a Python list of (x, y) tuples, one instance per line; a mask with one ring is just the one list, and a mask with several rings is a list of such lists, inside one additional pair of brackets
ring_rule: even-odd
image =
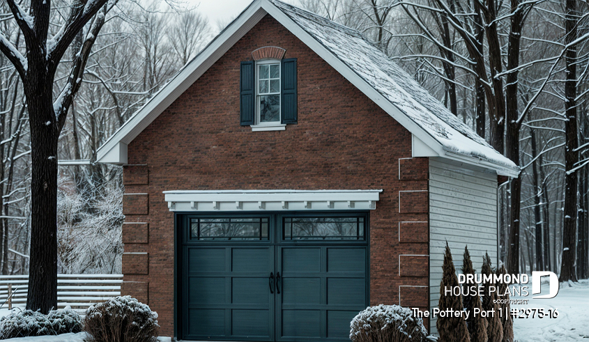
[[(576, 11), (576, 0), (565, 0), (566, 17), (565, 43), (569, 45), (576, 39), (576, 24), (579, 21), (579, 13)], [(572, 171), (579, 161), (579, 139), (577, 137), (576, 118), (576, 45), (569, 46), (566, 52), (565, 81), (565, 221), (563, 224), (563, 258), (560, 263), (560, 281), (576, 281), (575, 247), (576, 247), (576, 196), (577, 173)]]

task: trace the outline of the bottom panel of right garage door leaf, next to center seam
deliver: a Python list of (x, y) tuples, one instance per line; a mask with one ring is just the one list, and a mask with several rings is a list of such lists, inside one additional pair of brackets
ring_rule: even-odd
[(282, 337), (321, 337), (321, 311), (282, 311)]

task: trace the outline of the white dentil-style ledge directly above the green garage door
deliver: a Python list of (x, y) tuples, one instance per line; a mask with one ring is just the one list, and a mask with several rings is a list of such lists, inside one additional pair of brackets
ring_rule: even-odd
[(174, 212), (374, 210), (377, 190), (176, 190), (165, 201)]

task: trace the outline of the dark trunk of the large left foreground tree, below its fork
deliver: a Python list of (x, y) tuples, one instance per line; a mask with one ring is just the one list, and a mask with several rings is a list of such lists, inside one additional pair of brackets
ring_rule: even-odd
[[(41, 86), (39, 86), (41, 88)], [(27, 91), (31, 125), (31, 261), (26, 309), (57, 308), (57, 140), (51, 86)], [(45, 118), (45, 120), (43, 120)], [(49, 125), (47, 125), (49, 123)]]

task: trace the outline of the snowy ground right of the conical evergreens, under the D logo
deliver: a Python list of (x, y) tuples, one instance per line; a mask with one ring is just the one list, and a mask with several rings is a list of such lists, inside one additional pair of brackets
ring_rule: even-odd
[[(544, 287), (547, 285), (542, 286)], [(527, 297), (513, 296), (512, 300), (529, 300), (526, 305), (512, 305), (512, 309), (558, 309), (558, 318), (516, 318), (514, 338), (518, 342), (589, 341), (589, 280), (560, 284), (558, 295), (550, 299), (532, 299), (531, 286)], [(543, 293), (544, 294), (544, 291)]]

